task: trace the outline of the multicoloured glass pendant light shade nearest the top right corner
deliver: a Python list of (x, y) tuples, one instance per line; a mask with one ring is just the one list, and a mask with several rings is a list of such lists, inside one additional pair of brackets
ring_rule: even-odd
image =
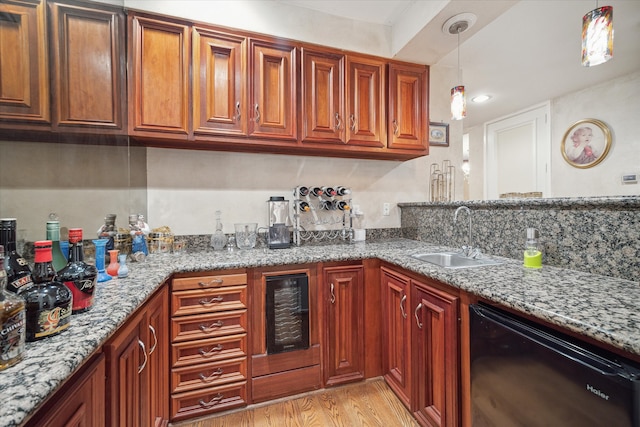
[(613, 6), (598, 7), (582, 17), (582, 65), (592, 67), (613, 57)]

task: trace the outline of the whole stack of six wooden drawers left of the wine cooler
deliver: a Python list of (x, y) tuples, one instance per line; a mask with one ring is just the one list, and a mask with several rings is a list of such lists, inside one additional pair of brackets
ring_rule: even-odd
[(172, 421), (249, 402), (247, 302), (244, 270), (173, 279)]

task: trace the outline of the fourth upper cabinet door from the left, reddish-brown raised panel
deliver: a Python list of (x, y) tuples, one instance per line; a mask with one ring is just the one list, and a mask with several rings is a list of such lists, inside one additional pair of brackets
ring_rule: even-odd
[(193, 28), (194, 134), (247, 135), (244, 37)]

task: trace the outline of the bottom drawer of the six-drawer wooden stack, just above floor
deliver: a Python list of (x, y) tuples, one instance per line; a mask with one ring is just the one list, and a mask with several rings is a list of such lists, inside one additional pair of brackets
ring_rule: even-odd
[(171, 396), (171, 420), (200, 417), (246, 404), (246, 381), (187, 391)]

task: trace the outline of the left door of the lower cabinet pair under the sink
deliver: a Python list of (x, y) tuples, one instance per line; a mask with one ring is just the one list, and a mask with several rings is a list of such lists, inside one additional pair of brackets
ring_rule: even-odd
[(411, 398), (411, 316), (409, 279), (381, 267), (382, 369), (387, 384), (409, 408)]

